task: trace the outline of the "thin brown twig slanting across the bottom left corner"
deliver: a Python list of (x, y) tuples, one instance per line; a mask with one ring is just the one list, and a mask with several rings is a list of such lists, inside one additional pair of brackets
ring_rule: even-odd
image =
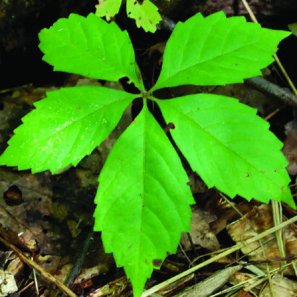
[(58, 279), (52, 276), (49, 272), (39, 266), (36, 262), (32, 261), (31, 259), (27, 258), (17, 247), (8, 243), (5, 239), (0, 237), (0, 242), (4, 244), (6, 247), (12, 249), (17, 256), (27, 265), (38, 271), (41, 276), (47, 280), (49, 283), (54, 284), (55, 286), (59, 287), (61, 291), (66, 293), (70, 297), (77, 297), (75, 293), (73, 293), (69, 288), (67, 288), (63, 283), (61, 283)]

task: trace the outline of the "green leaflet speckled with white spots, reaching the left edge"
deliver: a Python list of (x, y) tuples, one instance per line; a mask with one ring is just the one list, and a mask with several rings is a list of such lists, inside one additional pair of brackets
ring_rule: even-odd
[(22, 118), (0, 165), (19, 170), (56, 172), (76, 166), (108, 136), (125, 108), (139, 95), (98, 86), (65, 88), (47, 93)]

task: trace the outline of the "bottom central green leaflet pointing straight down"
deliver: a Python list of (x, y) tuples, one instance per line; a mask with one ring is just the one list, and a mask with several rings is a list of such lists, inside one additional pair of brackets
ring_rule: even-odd
[(145, 106), (112, 148), (99, 176), (95, 231), (124, 266), (135, 297), (153, 268), (189, 232), (195, 203), (178, 154)]

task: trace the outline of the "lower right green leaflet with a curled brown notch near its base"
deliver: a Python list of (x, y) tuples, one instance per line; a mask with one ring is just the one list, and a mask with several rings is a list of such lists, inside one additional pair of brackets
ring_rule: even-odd
[(205, 184), (231, 198), (284, 201), (296, 209), (283, 144), (238, 100), (211, 94), (156, 99), (171, 135)]

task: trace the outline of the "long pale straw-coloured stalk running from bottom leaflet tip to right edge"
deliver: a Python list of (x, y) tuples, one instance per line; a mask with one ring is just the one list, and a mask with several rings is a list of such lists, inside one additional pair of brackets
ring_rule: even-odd
[(280, 229), (282, 229), (282, 228), (284, 228), (284, 227), (286, 227), (286, 226), (288, 226), (288, 225), (296, 222), (296, 221), (297, 221), (297, 216), (295, 216), (295, 217), (293, 217), (293, 218), (291, 218), (291, 219), (289, 219), (289, 220), (287, 220), (287, 221), (285, 221), (285, 222), (283, 222), (283, 223), (281, 223), (281, 224), (279, 224), (277, 226), (274, 226), (273, 228), (270, 228), (269, 230), (266, 230), (266, 231), (264, 231), (264, 232), (256, 235), (255, 237), (248, 239), (245, 242), (238, 243), (235, 246), (230, 247), (229, 249), (221, 252), (220, 254), (218, 254), (218, 255), (216, 255), (216, 256), (214, 256), (214, 257), (212, 257), (212, 258), (204, 261), (203, 263), (200, 263), (200, 264), (198, 264), (198, 265), (196, 265), (196, 266), (194, 266), (194, 267), (192, 267), (192, 268), (190, 268), (190, 269), (188, 269), (188, 270), (186, 270), (186, 271), (184, 271), (184, 272), (182, 272), (182, 273), (174, 276), (173, 278), (171, 278), (171, 279), (169, 279), (169, 280), (167, 280), (165, 282), (162, 282), (162, 283), (160, 283), (160, 284), (158, 284), (158, 285), (156, 285), (156, 286), (148, 289), (147, 291), (145, 291), (142, 294), (141, 297), (148, 297), (152, 293), (155, 293), (155, 292), (163, 289), (167, 285), (172, 284), (173, 282), (175, 282), (175, 281), (177, 281), (177, 280), (179, 280), (179, 279), (187, 276), (188, 274), (190, 274), (192, 272), (195, 272), (196, 270), (198, 270), (198, 269), (200, 269), (200, 268), (202, 268), (202, 267), (204, 267), (204, 266), (206, 266), (206, 265), (208, 265), (210, 263), (213, 263), (213, 262), (219, 260), (220, 258), (225, 257), (225, 256), (233, 253), (234, 251), (239, 250), (242, 247), (245, 247), (246, 245), (251, 244), (251, 243), (253, 243), (253, 242), (255, 242), (255, 241), (257, 241), (257, 240), (259, 240), (259, 239), (261, 239), (261, 238), (263, 238), (263, 237), (265, 237), (265, 236), (267, 236), (267, 235), (269, 235), (269, 234), (271, 234), (271, 233), (273, 233), (273, 232), (275, 232), (277, 230), (280, 230)]

